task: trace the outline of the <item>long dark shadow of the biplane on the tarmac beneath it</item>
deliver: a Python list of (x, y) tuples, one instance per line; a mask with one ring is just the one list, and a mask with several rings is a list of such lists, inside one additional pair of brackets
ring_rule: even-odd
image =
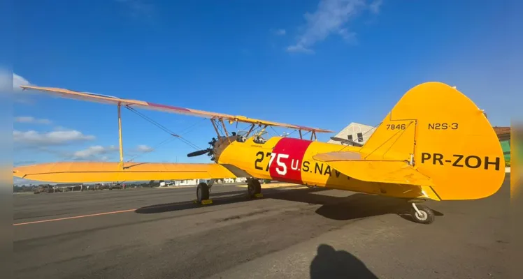
[[(372, 216), (380, 216), (385, 214), (396, 214), (406, 220), (411, 220), (410, 205), (402, 199), (394, 197), (385, 197), (380, 195), (367, 195), (355, 193), (348, 197), (332, 197), (327, 195), (314, 195), (314, 193), (325, 191), (323, 188), (309, 188), (309, 189), (295, 189), (295, 190), (278, 190), (278, 189), (264, 189), (264, 197), (259, 199), (281, 199), (290, 202), (303, 202), (308, 204), (321, 204), (316, 213), (325, 218), (333, 220), (353, 220), (359, 218), (368, 218)], [(229, 197), (224, 197), (229, 196)], [(234, 204), (238, 202), (249, 202), (253, 199), (247, 197), (245, 190), (211, 193), (210, 198), (213, 199), (213, 204), (205, 205), (218, 206), (224, 204)], [(151, 206), (144, 206), (136, 209), (136, 213), (150, 214), (163, 213), (169, 211), (180, 211), (186, 209), (196, 209), (203, 207), (200, 204), (195, 204), (192, 201), (188, 202), (173, 202), (169, 204), (155, 204)], [(443, 214), (434, 211), (436, 216)]]

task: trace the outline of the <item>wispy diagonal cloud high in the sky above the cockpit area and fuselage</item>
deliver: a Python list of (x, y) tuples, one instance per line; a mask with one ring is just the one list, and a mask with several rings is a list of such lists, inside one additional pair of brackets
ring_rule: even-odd
[(354, 40), (355, 33), (346, 27), (348, 22), (365, 8), (378, 13), (381, 3), (381, 0), (375, 0), (367, 6), (364, 0), (320, 0), (314, 13), (304, 15), (306, 28), (296, 44), (287, 47), (287, 52), (314, 53), (312, 47), (333, 33), (345, 40)]

